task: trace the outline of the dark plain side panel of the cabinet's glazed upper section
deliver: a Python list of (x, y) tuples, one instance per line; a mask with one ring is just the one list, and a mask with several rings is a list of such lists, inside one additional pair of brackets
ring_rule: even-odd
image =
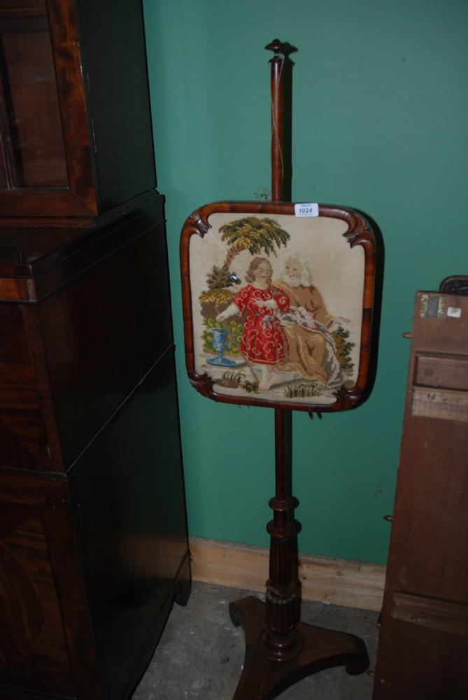
[(108, 211), (156, 186), (143, 10), (140, 0), (78, 0), (78, 8), (98, 207)]

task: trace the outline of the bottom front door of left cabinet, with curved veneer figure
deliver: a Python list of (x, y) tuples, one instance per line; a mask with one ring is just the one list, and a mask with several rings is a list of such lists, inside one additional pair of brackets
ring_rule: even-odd
[[(54, 540), (63, 538), (64, 533), (52, 533), (51, 537), (49, 528), (50, 511), (57, 510), (58, 504), (58, 509), (69, 507), (63, 505), (67, 489), (63, 482), (53, 479), (13, 477), (0, 472), (0, 492), (0, 685), (48, 696), (74, 695), (54, 573)], [(73, 548), (73, 540), (67, 546)], [(78, 627), (85, 624), (86, 615), (82, 615)], [(80, 636), (78, 629), (76, 636)], [(91, 645), (84, 650), (83, 666), (90, 652)], [(90, 666), (86, 670), (92, 687)]]

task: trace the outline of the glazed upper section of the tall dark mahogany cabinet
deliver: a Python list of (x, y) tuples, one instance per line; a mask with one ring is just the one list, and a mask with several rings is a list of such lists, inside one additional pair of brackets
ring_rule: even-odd
[(155, 186), (141, 0), (2, 0), (1, 216), (91, 220)]

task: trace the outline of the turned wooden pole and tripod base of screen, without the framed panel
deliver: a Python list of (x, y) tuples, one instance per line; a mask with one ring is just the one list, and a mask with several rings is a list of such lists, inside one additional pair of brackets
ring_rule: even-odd
[[(289, 113), (286, 109), (283, 113), (283, 94), (289, 105), (286, 90), (292, 83), (288, 84), (288, 54), (293, 49), (278, 39), (266, 48), (274, 51), (270, 61), (271, 193), (274, 201), (283, 202), (290, 191), (290, 162), (284, 148), (290, 137)], [(280, 52), (285, 59), (278, 55)], [(273, 700), (293, 683), (322, 668), (344, 665), (348, 673), (363, 673), (369, 665), (366, 647), (359, 638), (300, 621), (297, 526), (293, 513), (296, 504), (291, 478), (292, 412), (274, 408), (274, 416), (275, 495), (269, 501), (273, 519), (267, 524), (270, 563), (266, 604), (255, 596), (229, 604), (232, 621), (242, 624), (246, 636), (243, 670), (233, 700)]]

